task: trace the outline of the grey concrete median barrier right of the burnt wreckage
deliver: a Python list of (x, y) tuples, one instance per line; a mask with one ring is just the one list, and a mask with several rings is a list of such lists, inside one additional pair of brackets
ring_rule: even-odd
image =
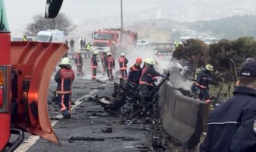
[(208, 105), (183, 96), (170, 82), (165, 83), (159, 93), (160, 119), (164, 130), (183, 148), (195, 148), (206, 125)]

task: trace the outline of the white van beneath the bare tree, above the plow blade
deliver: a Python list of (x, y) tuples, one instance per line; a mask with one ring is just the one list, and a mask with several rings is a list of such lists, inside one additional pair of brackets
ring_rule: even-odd
[(61, 30), (41, 30), (37, 33), (37, 41), (51, 42), (51, 43), (64, 43), (65, 35)]

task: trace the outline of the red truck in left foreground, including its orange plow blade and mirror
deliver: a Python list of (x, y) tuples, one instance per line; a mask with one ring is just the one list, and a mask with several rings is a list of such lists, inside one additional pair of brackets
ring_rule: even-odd
[[(62, 2), (47, 0), (45, 17), (56, 17)], [(11, 42), (4, 0), (0, 0), (0, 44), (0, 151), (15, 150), (24, 140), (24, 131), (60, 144), (48, 115), (47, 91), (51, 74), (68, 47)]]

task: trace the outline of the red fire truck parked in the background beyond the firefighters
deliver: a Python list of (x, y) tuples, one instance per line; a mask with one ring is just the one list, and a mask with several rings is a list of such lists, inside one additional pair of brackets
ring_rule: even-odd
[(94, 31), (92, 33), (92, 46), (96, 49), (105, 49), (115, 43), (122, 49), (137, 46), (138, 33), (131, 30), (122, 30), (121, 28), (109, 28)]

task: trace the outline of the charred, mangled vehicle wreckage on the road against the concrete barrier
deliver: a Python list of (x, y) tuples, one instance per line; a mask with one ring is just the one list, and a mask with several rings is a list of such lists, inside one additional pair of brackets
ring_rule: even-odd
[[(142, 97), (138, 87), (120, 79), (120, 83), (114, 83), (115, 93), (113, 93), (112, 97), (99, 97), (99, 103), (101, 103), (106, 112), (115, 116), (127, 116), (128, 119), (147, 115), (157, 117), (158, 90), (165, 81), (169, 80), (169, 77), (170, 73), (167, 72), (167, 75), (160, 80), (160, 83), (154, 84), (150, 93), (144, 94)], [(146, 102), (143, 103), (141, 100)]]

